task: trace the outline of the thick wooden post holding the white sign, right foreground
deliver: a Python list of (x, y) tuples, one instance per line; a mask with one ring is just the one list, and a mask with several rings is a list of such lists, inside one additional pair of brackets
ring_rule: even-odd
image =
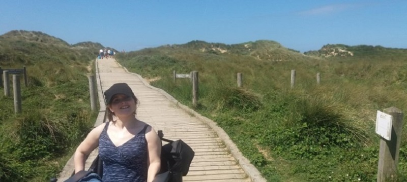
[(393, 181), (397, 177), (398, 155), (400, 152), (401, 130), (403, 128), (403, 113), (396, 107), (389, 107), (384, 113), (393, 117), (391, 140), (380, 139), (379, 165), (377, 167), (377, 182)]

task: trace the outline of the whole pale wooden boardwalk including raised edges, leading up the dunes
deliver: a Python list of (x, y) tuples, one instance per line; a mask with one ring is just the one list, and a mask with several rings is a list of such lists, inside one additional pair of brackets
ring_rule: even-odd
[[(195, 151), (188, 175), (183, 177), (184, 181), (266, 181), (213, 121), (178, 103), (161, 89), (150, 86), (114, 59), (98, 59), (96, 69), (101, 110), (95, 126), (100, 125), (104, 118), (102, 93), (114, 83), (124, 82), (140, 100), (137, 108), (139, 120), (147, 122), (156, 131), (163, 130), (165, 138), (182, 139)], [(89, 167), (96, 155), (97, 150), (89, 156), (86, 167)], [(58, 181), (64, 181), (72, 171), (71, 158)]]

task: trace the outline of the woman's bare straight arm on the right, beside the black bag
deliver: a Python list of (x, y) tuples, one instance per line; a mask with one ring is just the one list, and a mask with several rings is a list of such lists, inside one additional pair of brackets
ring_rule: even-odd
[(151, 182), (160, 171), (161, 140), (151, 126), (147, 128), (146, 140), (149, 149), (147, 182)]

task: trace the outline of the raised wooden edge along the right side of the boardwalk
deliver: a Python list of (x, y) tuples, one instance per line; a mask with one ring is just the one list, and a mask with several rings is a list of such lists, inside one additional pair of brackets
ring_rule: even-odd
[(242, 155), (242, 153), (237, 148), (236, 144), (229, 138), (229, 136), (226, 134), (226, 132), (222, 128), (217, 126), (217, 124), (214, 121), (210, 120), (207, 117), (200, 115), (199, 113), (195, 112), (188, 106), (182, 104), (181, 102), (179, 102), (177, 99), (175, 99), (174, 97), (169, 95), (164, 90), (151, 86), (150, 83), (147, 82), (144, 78), (142, 78), (140, 75), (138, 75), (134, 72), (128, 71), (127, 68), (122, 66), (119, 62), (116, 62), (116, 63), (119, 66), (123, 67), (126, 70), (126, 72), (128, 72), (129, 74), (133, 74), (133, 75), (137, 76), (144, 85), (146, 85), (147, 87), (149, 87), (151, 89), (159, 91), (161, 94), (163, 94), (165, 97), (167, 97), (170, 101), (175, 103), (178, 107), (182, 108), (182, 110), (184, 110), (185, 112), (187, 112), (191, 115), (194, 115), (196, 118), (205, 122), (209, 127), (211, 127), (218, 134), (218, 136), (224, 141), (226, 148), (230, 151), (230, 154), (238, 160), (239, 165), (242, 167), (242, 169), (245, 171), (245, 173), (249, 176), (249, 178), (253, 182), (266, 182), (267, 181), (263, 176), (261, 176), (261, 173), (257, 170), (257, 168), (255, 168), (254, 165), (251, 164), (250, 161)]

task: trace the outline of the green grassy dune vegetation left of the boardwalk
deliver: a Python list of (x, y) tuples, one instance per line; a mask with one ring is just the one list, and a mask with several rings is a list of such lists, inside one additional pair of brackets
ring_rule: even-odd
[(22, 114), (14, 114), (13, 97), (0, 96), (0, 181), (48, 181), (62, 170), (96, 119), (86, 74), (100, 48), (35, 31), (0, 36), (0, 66), (26, 66), (28, 75)]

